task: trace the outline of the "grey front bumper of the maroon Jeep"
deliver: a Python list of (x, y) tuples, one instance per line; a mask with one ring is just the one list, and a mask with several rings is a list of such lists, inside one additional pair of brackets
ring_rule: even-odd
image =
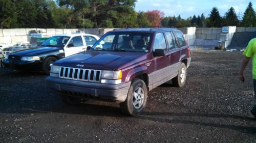
[(94, 98), (112, 102), (124, 102), (131, 85), (131, 82), (104, 84), (51, 76), (46, 78), (46, 83), (50, 89), (57, 92), (80, 98)]

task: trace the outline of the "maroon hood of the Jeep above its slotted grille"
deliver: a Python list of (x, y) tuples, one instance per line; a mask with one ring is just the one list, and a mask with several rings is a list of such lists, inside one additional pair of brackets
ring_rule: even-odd
[[(123, 51), (86, 51), (68, 56), (54, 65), (85, 69), (119, 70), (137, 62), (141, 62), (144, 52)], [(137, 61), (137, 62), (136, 62)]]

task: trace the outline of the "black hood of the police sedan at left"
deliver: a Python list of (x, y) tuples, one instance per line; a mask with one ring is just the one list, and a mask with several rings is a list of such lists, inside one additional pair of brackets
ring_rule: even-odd
[(19, 55), (19, 56), (35, 56), (48, 52), (58, 51), (60, 47), (40, 47), (40, 48), (28, 48), (24, 50), (19, 50), (10, 53), (10, 55)]

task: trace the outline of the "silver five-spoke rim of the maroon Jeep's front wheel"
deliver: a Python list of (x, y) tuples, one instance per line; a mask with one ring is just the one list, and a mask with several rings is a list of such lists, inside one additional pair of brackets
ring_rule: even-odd
[(144, 99), (144, 91), (142, 88), (138, 87), (133, 93), (133, 106), (138, 109), (142, 106)]

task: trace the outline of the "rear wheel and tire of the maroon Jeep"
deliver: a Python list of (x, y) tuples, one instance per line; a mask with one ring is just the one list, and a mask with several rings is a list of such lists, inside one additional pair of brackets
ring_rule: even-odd
[(184, 87), (186, 83), (187, 68), (184, 63), (181, 63), (178, 75), (172, 79), (175, 87)]

